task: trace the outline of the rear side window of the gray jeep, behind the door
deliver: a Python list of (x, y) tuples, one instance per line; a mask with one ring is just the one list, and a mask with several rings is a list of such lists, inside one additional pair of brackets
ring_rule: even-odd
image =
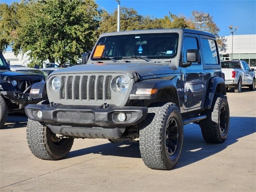
[(216, 41), (202, 38), (202, 51), (205, 64), (218, 64)]

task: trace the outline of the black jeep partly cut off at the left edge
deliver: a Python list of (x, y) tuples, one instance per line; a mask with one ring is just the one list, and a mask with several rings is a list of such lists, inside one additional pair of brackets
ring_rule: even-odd
[(8, 113), (24, 111), (32, 84), (44, 81), (42, 75), (27, 72), (12, 72), (0, 52), (0, 128), (6, 122)]

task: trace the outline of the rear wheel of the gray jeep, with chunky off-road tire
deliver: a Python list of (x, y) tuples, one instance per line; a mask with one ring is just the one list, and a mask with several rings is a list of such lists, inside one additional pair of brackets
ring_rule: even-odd
[[(226, 110), (225, 115), (223, 106)], [(208, 143), (224, 142), (228, 136), (230, 123), (229, 106), (226, 97), (221, 94), (215, 94), (211, 109), (205, 110), (204, 114), (206, 114), (206, 119), (200, 121), (204, 140)], [(226, 122), (224, 122), (224, 116), (226, 116)], [(225, 124), (224, 129), (223, 124)]]

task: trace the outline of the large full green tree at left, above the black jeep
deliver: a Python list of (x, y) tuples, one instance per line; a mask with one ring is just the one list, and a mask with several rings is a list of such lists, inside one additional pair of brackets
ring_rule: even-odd
[(74, 64), (96, 41), (99, 12), (94, 0), (29, 0), (18, 7), (26, 10), (8, 44), (14, 52), (28, 54), (30, 66), (47, 59), (60, 66)]

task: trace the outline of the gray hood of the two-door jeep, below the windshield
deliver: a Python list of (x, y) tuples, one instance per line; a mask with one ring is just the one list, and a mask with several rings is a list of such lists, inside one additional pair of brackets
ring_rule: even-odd
[(133, 73), (137, 72), (140, 77), (154, 76), (158, 74), (170, 74), (176, 70), (175, 66), (167, 63), (154, 62), (130, 62), (130, 63), (98, 63), (76, 65), (62, 70), (56, 70), (50, 74), (76, 74), (76, 73), (125, 73), (133, 78)]

